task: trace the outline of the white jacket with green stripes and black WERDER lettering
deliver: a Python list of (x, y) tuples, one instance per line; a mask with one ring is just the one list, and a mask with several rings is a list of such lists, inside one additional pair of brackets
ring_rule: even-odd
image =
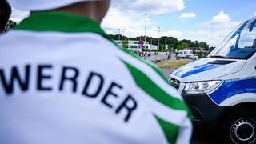
[(31, 14), (0, 37), (0, 143), (190, 143), (190, 112), (160, 70), (96, 22)]

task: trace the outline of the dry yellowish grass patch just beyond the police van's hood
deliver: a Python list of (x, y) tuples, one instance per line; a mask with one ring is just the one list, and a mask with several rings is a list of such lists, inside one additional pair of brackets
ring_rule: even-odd
[(157, 66), (160, 69), (177, 69), (180, 66), (186, 65), (187, 63), (192, 62), (191, 59), (170, 59), (164, 60), (162, 62), (157, 62)]

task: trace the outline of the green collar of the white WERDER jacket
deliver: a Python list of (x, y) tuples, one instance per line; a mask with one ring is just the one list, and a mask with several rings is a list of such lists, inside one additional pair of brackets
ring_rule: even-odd
[(59, 31), (67, 33), (93, 32), (111, 39), (98, 23), (90, 18), (55, 11), (30, 14), (14, 30)]

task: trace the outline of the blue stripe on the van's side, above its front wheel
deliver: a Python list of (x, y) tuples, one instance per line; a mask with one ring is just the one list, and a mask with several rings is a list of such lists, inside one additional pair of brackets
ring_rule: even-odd
[(209, 96), (219, 105), (227, 98), (242, 93), (256, 93), (256, 78), (224, 81), (222, 86), (220, 86), (218, 90), (214, 91), (214, 93), (209, 94)]

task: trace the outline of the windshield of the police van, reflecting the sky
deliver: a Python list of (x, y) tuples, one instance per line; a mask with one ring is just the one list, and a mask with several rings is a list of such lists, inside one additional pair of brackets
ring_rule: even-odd
[(242, 22), (207, 58), (248, 59), (256, 51), (256, 17)]

